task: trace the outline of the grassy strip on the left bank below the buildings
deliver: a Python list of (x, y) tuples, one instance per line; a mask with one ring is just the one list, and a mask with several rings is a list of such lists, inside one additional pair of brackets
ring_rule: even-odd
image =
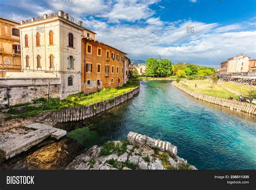
[[(37, 116), (42, 112), (56, 111), (66, 108), (77, 108), (83, 107), (85, 105), (90, 105), (97, 103), (106, 99), (110, 99), (114, 96), (121, 95), (123, 93), (129, 92), (130, 90), (139, 86), (138, 79), (130, 79), (123, 87), (118, 88), (104, 88), (98, 92), (91, 94), (78, 93), (74, 95), (69, 95), (64, 100), (59, 100), (59, 98), (49, 98), (49, 104), (46, 103), (46, 98), (38, 98), (33, 100), (33, 103), (39, 106), (29, 106), (28, 103), (21, 110), (15, 109), (17, 105), (11, 107), (11, 109), (6, 112), (5, 121), (14, 118), (26, 118), (31, 116)], [(21, 104), (19, 104), (21, 105)]]

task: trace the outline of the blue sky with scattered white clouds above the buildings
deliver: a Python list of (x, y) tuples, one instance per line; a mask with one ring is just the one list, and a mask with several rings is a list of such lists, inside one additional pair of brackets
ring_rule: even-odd
[(0, 16), (18, 21), (58, 10), (130, 59), (215, 68), (239, 53), (256, 59), (255, 0), (0, 0)]

